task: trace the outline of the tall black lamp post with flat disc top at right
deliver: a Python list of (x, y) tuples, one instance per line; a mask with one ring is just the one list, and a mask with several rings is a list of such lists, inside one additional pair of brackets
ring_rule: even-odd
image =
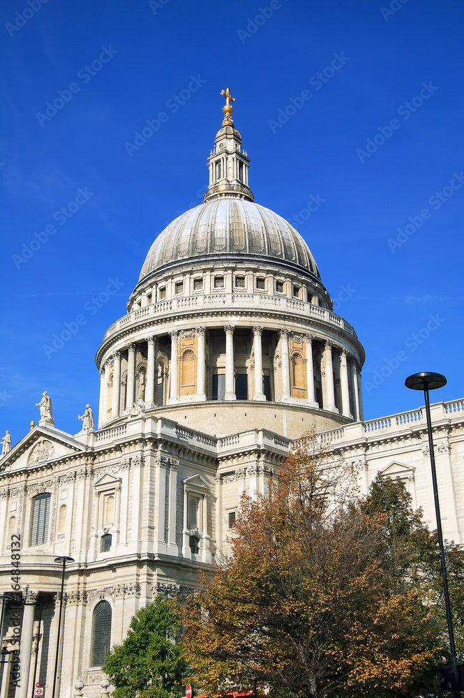
[(430, 456), (431, 456), (433, 499), (435, 500), (435, 514), (437, 517), (438, 546), (440, 547), (440, 562), (442, 565), (444, 607), (445, 607), (446, 612), (447, 612), (449, 649), (451, 651), (451, 662), (453, 664), (454, 685), (456, 687), (459, 687), (458, 690), (453, 691), (453, 695), (455, 698), (458, 698), (461, 696), (461, 681), (460, 681), (459, 674), (458, 674), (458, 658), (456, 656), (456, 644), (454, 644), (453, 618), (451, 616), (451, 605), (449, 603), (447, 563), (446, 563), (446, 560), (444, 558), (442, 518), (440, 516), (440, 500), (438, 499), (437, 470), (435, 468), (435, 454), (433, 452), (431, 406), (430, 406), (430, 399), (428, 396), (429, 390), (435, 390), (437, 388), (442, 388), (444, 385), (447, 385), (447, 379), (444, 376), (442, 376), (441, 373), (431, 373), (429, 371), (424, 371), (423, 373), (414, 373), (412, 376), (408, 376), (405, 380), (405, 386), (407, 388), (410, 388), (412, 390), (424, 390), (424, 397), (425, 397), (425, 401), (426, 401), (428, 450), (429, 450)]

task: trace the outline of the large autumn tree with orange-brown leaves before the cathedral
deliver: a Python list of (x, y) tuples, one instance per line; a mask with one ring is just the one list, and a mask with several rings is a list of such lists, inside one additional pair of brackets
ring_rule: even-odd
[(398, 517), (389, 511), (380, 483), (362, 500), (355, 479), (310, 435), (269, 498), (243, 499), (230, 557), (184, 611), (207, 695), (249, 690), (256, 677), (280, 696), (404, 697), (433, 674), (444, 625), (399, 544), (424, 535), (419, 514), (399, 491)]

